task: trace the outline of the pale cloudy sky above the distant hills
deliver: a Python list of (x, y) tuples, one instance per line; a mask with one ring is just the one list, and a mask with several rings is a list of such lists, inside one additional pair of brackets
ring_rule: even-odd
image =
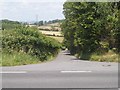
[(48, 21), (64, 19), (63, 3), (66, 0), (2, 0), (0, 19), (14, 21)]

